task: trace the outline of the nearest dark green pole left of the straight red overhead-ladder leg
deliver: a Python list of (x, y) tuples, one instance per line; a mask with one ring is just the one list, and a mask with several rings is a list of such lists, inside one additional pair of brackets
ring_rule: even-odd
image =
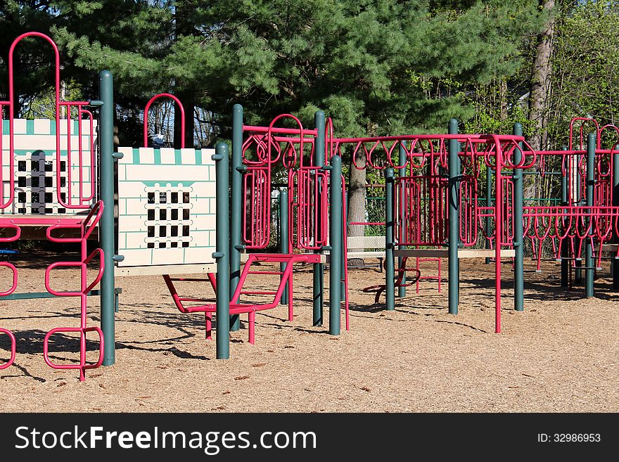
[[(449, 120), (449, 134), (458, 133), (458, 120)], [(459, 223), (459, 146), (449, 140), (449, 314), (458, 314), (460, 297), (460, 265), (458, 261)], [(498, 264), (498, 262), (497, 262)]]

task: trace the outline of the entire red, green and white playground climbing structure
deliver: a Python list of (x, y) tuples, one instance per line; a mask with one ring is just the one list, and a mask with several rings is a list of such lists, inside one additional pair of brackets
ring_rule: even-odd
[[(13, 54), (26, 37), (46, 40), (55, 54), (55, 121), (13, 117)], [(512, 135), (458, 134), (457, 121), (451, 120), (449, 134), (336, 138), (331, 120), (321, 111), (314, 115), (314, 129), (304, 128), (291, 114), (275, 117), (267, 127), (255, 127), (243, 124), (243, 108), (235, 105), (229, 166), (225, 143), (218, 143), (215, 150), (183, 145), (115, 152), (110, 72), (99, 75), (99, 100), (66, 102), (60, 101), (59, 69), (58, 49), (44, 34), (29, 32), (13, 42), (8, 56), (9, 98), (0, 101), (0, 242), (15, 243), (43, 230), (48, 240), (78, 244), (79, 259), (52, 262), (45, 270), (45, 293), (16, 293), (18, 265), (0, 262), (12, 274), (11, 287), (0, 293), (0, 299), (79, 297), (79, 326), (51, 328), (44, 337), (43, 357), (52, 368), (79, 369), (80, 380), (87, 369), (115, 362), (120, 293), (115, 289), (116, 274), (162, 275), (181, 312), (205, 314), (207, 338), (215, 314), (217, 358), (225, 359), (229, 331), (238, 329), (240, 314), (248, 314), (252, 343), (256, 312), (288, 304), (292, 319), (295, 264), (312, 264), (312, 321), (320, 326), (328, 262), (328, 331), (340, 333), (342, 304), (348, 329), (347, 259), (354, 253), (348, 255), (344, 226), (343, 150), (350, 150), (356, 168), (384, 172), (385, 219), (375, 224), (385, 227), (385, 284), (367, 291), (376, 292), (375, 302), (384, 292), (387, 309), (395, 309), (395, 287), (403, 295), (404, 287), (419, 284), (423, 278), (419, 264), (428, 259), (438, 262), (440, 290), (440, 259), (448, 258), (449, 313), (457, 314), (459, 259), (494, 258), (495, 330), (500, 332), (501, 262), (513, 258), (514, 304), (522, 311), (525, 240), (537, 249), (538, 267), (544, 245), (552, 249), (554, 259), (561, 260), (562, 285), (571, 285), (572, 272), (577, 279), (585, 271), (587, 297), (594, 295), (594, 272), (604, 253), (611, 255), (613, 284), (619, 287), (619, 141), (610, 149), (601, 145), (603, 137), (619, 138), (617, 127), (599, 127), (594, 120), (577, 118), (570, 125), (567, 149), (535, 152), (518, 124)], [(184, 115), (171, 94), (153, 96), (144, 117), (145, 145), (148, 108), (161, 97), (176, 101)], [(98, 121), (89, 108), (98, 108)], [(585, 137), (586, 124), (593, 132)], [(117, 230), (114, 162), (118, 162)], [(560, 165), (560, 172), (547, 165)], [(483, 171), (484, 202), (479, 200)], [(524, 205), (525, 174), (560, 177), (560, 205)], [(279, 200), (279, 230), (272, 229), (274, 199)], [(88, 253), (87, 242), (94, 238), (100, 245)], [(279, 252), (267, 253), (275, 244)], [(416, 266), (407, 267), (413, 257)], [(261, 267), (262, 263), (267, 265)], [(279, 271), (273, 269), (277, 264)], [(89, 280), (87, 269), (93, 266), (96, 276)], [(61, 267), (79, 268), (79, 289), (52, 287), (51, 275)], [(174, 276), (178, 274), (205, 276)], [(276, 290), (245, 286), (248, 276), (264, 275), (279, 278)], [(215, 302), (182, 297), (174, 285), (180, 281), (210, 282)], [(94, 289), (98, 283), (101, 290)], [(87, 325), (87, 297), (92, 295), (101, 295), (100, 328)], [(79, 333), (79, 361), (72, 364), (56, 364), (49, 357), (50, 338), (64, 333)], [(94, 362), (86, 359), (89, 333), (99, 337)], [(11, 342), (10, 357), (0, 364), (4, 369), (15, 361), (17, 342), (7, 328), (0, 327), (0, 335)]]

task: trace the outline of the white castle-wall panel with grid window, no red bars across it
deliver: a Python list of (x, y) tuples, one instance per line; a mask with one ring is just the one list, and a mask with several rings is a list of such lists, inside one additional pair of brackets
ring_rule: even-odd
[(118, 151), (118, 266), (212, 264), (215, 150)]

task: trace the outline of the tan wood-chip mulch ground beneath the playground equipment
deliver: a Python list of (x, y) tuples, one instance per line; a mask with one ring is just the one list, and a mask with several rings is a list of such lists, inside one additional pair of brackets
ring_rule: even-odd
[[(44, 267), (55, 256), (15, 259), (17, 292), (44, 290)], [(13, 261), (13, 260), (12, 260)], [(424, 274), (435, 274), (424, 263)], [(79, 372), (46, 366), (47, 331), (79, 326), (75, 297), (3, 301), (0, 327), (18, 339), (13, 366), (0, 371), (2, 411), (121, 412), (617, 412), (619, 411), (619, 294), (607, 265), (596, 279), (596, 297), (582, 285), (559, 285), (560, 267), (542, 273), (525, 264), (525, 311), (513, 310), (511, 264), (503, 264), (502, 333), (494, 333), (494, 266), (461, 262), (459, 314), (447, 313), (447, 262), (441, 292), (423, 281), (396, 298), (395, 311), (372, 304), (366, 285), (381, 283), (376, 269), (350, 271), (350, 331), (328, 335), (312, 326), (312, 271), (294, 279), (294, 320), (288, 309), (256, 316), (256, 342), (248, 343), (246, 315), (231, 333), (227, 361), (215, 359), (215, 340), (205, 340), (204, 317), (181, 314), (160, 276), (117, 278), (122, 287), (116, 315), (116, 364)], [(53, 279), (75, 287), (74, 270)], [(0, 290), (10, 271), (0, 269)], [(275, 287), (263, 276), (253, 287)], [(328, 284), (328, 274), (325, 276)], [(208, 295), (206, 284), (181, 285)], [(384, 302), (384, 297), (381, 298)], [(98, 297), (89, 298), (89, 326), (98, 326)], [(217, 335), (217, 332), (214, 332)], [(98, 352), (89, 334), (89, 359)], [(51, 338), (53, 361), (79, 357), (77, 337)], [(0, 362), (8, 338), (0, 335)]]

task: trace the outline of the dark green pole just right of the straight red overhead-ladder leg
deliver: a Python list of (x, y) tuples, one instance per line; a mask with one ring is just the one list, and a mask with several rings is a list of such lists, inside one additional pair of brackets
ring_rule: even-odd
[[(513, 134), (522, 136), (522, 124), (513, 124)], [(522, 143), (520, 149), (513, 153), (515, 165), (523, 161)], [(524, 230), (523, 230), (523, 169), (513, 169), (513, 249), (516, 256), (513, 261), (513, 307), (517, 312), (524, 311)], [(499, 264), (499, 262), (497, 262)]]

